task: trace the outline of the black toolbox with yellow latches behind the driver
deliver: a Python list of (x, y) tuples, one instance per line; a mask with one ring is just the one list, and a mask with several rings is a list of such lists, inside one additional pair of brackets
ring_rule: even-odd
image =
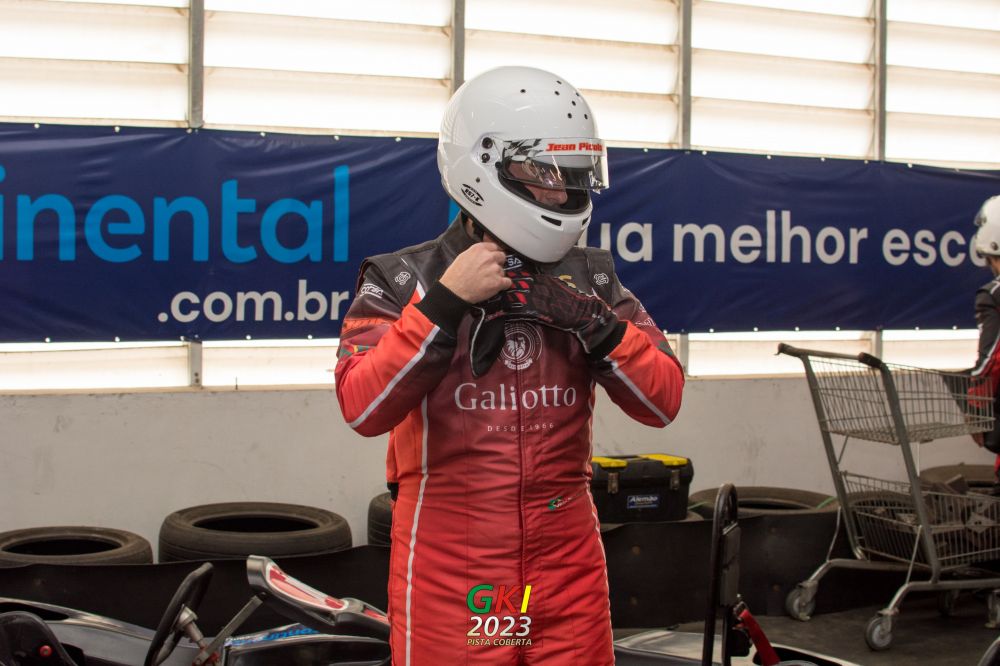
[(662, 453), (594, 456), (590, 492), (602, 523), (684, 520), (694, 466)]

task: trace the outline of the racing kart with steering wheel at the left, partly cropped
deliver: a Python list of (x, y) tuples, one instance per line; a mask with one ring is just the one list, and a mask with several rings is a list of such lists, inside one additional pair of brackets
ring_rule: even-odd
[[(389, 664), (389, 621), (357, 599), (337, 599), (251, 556), (254, 595), (214, 638), (197, 625), (212, 563), (184, 578), (155, 631), (79, 610), (0, 598), (0, 666), (281, 666)], [(236, 636), (267, 603), (293, 624)]]

